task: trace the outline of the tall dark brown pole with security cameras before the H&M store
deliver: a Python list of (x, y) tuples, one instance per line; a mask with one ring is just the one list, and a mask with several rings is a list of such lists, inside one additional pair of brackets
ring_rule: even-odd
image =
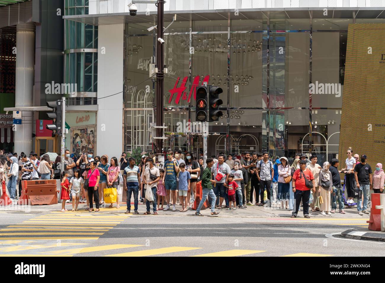
[[(164, 13), (164, 0), (159, 0), (158, 2), (158, 25), (157, 25), (157, 37), (163, 39), (163, 13)], [(156, 74), (156, 126), (163, 126), (164, 119), (164, 99), (163, 99), (163, 89), (164, 89), (164, 44), (156, 41), (156, 63), (158, 66), (158, 72)], [(163, 136), (163, 129), (156, 129), (156, 136)], [(157, 153), (162, 153), (163, 148), (163, 139), (156, 140)]]

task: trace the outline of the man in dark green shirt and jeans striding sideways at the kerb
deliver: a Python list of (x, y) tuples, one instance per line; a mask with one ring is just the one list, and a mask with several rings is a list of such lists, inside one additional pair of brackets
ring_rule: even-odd
[(215, 184), (215, 180), (211, 179), (211, 167), (214, 164), (213, 159), (212, 158), (206, 159), (206, 164), (207, 164), (207, 167), (203, 170), (203, 174), (202, 174), (202, 199), (196, 210), (196, 213), (195, 213), (196, 216), (203, 216), (203, 214), (201, 214), (200, 211), (204, 202), (207, 199), (207, 196), (210, 196), (211, 198), (211, 215), (219, 214), (219, 212), (215, 211), (216, 196), (213, 191), (213, 184)]

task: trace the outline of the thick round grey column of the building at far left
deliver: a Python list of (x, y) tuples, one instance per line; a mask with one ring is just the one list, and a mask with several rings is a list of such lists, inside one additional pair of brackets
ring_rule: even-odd
[[(16, 48), (15, 107), (33, 106), (35, 25), (17, 25)], [(32, 151), (32, 111), (22, 111), (22, 125), (16, 125), (15, 130), (15, 152), (28, 155)]]

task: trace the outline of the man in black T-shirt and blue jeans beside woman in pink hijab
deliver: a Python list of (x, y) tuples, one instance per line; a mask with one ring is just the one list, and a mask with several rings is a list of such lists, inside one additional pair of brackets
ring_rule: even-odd
[(367, 156), (362, 154), (361, 163), (356, 164), (354, 167), (354, 177), (356, 179), (357, 189), (363, 194), (363, 203), (361, 196), (358, 196), (357, 202), (357, 212), (360, 215), (362, 215), (362, 213), (369, 214), (369, 211), (366, 209), (368, 208), (369, 190), (373, 188), (372, 167), (370, 167), (366, 161)]

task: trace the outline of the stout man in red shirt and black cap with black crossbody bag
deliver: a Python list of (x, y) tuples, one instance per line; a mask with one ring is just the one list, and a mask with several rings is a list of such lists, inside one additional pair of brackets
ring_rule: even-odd
[(313, 184), (313, 193), (315, 193), (314, 176), (311, 173), (310, 169), (306, 169), (305, 160), (301, 160), (299, 163), (300, 163), (300, 169), (297, 169), (294, 172), (293, 177), (291, 178), (292, 180), (291, 182), (293, 185), (294, 199), (295, 199), (294, 200), (295, 208), (293, 209), (291, 218), (297, 217), (301, 200), (303, 204), (303, 216), (305, 218), (310, 218), (309, 216), (310, 188), (306, 186), (305, 178)]

